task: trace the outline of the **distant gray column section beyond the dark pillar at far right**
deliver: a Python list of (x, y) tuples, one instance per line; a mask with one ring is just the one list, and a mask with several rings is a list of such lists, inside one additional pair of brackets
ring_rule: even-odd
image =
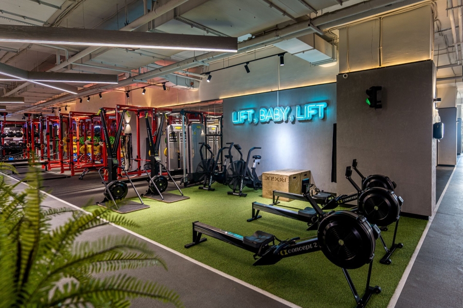
[(437, 164), (454, 166), (457, 155), (456, 107), (439, 108), (439, 116), (444, 124), (444, 136), (437, 143)]

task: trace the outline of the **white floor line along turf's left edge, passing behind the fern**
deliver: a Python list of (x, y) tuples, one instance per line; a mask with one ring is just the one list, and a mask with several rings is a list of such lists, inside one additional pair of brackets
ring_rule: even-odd
[[(19, 180), (15, 179), (15, 178), (13, 178), (13, 177), (10, 177), (9, 175), (6, 175), (6, 176), (8, 176), (9, 178), (11, 178), (11, 179), (13, 179), (13, 180), (19, 182)], [(30, 186), (29, 184), (24, 183), (24, 182), (23, 182), (23, 184)], [(41, 191), (44, 195), (46, 195), (46, 196), (48, 196), (48, 197), (50, 197), (50, 198), (53, 198), (53, 199), (58, 200), (58, 201), (60, 201), (60, 202), (62, 202), (62, 203), (64, 203), (64, 204), (66, 204), (66, 205), (68, 205), (68, 206), (71, 206), (71, 207), (74, 207), (74, 208), (76, 208), (76, 209), (78, 209), (78, 210), (81, 210), (81, 211), (83, 211), (84, 213), (90, 214), (90, 212), (88, 212), (88, 211), (86, 211), (86, 210), (84, 210), (84, 209), (82, 209), (82, 208), (80, 208), (80, 207), (78, 207), (78, 206), (76, 206), (76, 205), (74, 205), (74, 204), (72, 204), (72, 203), (69, 203), (69, 202), (67, 202), (67, 201), (64, 201), (64, 200), (58, 198), (58, 197), (55, 197), (55, 196), (53, 196), (53, 195), (50, 195), (50, 194), (48, 194), (48, 192), (45, 192), (45, 191), (43, 191), (43, 190), (40, 190), (40, 191)], [(250, 288), (251, 290), (256, 291), (256, 292), (258, 292), (258, 293), (260, 293), (260, 294), (262, 294), (262, 295), (265, 295), (265, 296), (267, 296), (267, 297), (270, 297), (271, 299), (273, 299), (273, 300), (275, 300), (275, 301), (277, 301), (277, 302), (280, 302), (280, 303), (282, 303), (282, 304), (284, 304), (284, 305), (287, 305), (288, 307), (291, 307), (291, 308), (301, 308), (300, 306), (298, 306), (298, 305), (296, 305), (296, 304), (294, 304), (294, 303), (292, 303), (292, 302), (289, 302), (289, 301), (287, 301), (287, 300), (285, 300), (285, 299), (282, 299), (281, 297), (278, 297), (278, 296), (276, 296), (276, 295), (273, 295), (273, 294), (270, 293), (270, 292), (267, 292), (267, 291), (265, 291), (265, 290), (262, 290), (261, 288), (259, 288), (259, 287), (257, 287), (257, 286), (254, 286), (254, 285), (252, 285), (252, 284), (250, 284), (250, 283), (247, 283), (247, 282), (245, 282), (245, 281), (243, 281), (243, 280), (240, 280), (240, 279), (238, 279), (238, 278), (236, 278), (236, 277), (233, 277), (233, 276), (230, 276), (230, 275), (228, 275), (228, 274), (226, 274), (226, 273), (224, 273), (224, 272), (221, 272), (221, 271), (219, 271), (219, 270), (216, 269), (216, 268), (213, 268), (213, 267), (211, 267), (211, 266), (209, 266), (209, 265), (206, 265), (206, 264), (201, 263), (201, 262), (199, 262), (199, 261), (197, 261), (197, 260), (194, 260), (194, 259), (192, 259), (192, 258), (190, 258), (190, 257), (188, 257), (188, 256), (185, 256), (184, 254), (181, 254), (181, 253), (179, 253), (179, 252), (177, 252), (177, 251), (174, 251), (173, 249), (171, 249), (171, 248), (169, 248), (169, 247), (167, 247), (167, 246), (164, 246), (163, 244), (159, 244), (158, 242), (155, 242), (155, 241), (153, 241), (153, 240), (151, 240), (151, 239), (149, 239), (149, 238), (147, 238), (147, 237), (144, 237), (144, 236), (142, 236), (142, 235), (139, 235), (138, 233), (135, 233), (135, 232), (133, 232), (133, 231), (131, 231), (131, 230), (129, 230), (129, 229), (126, 229), (126, 228), (121, 227), (121, 226), (119, 226), (119, 225), (116, 225), (116, 224), (114, 224), (114, 223), (110, 223), (110, 224), (113, 225), (113, 226), (115, 226), (116, 228), (119, 228), (119, 229), (121, 229), (121, 230), (124, 230), (125, 232), (130, 233), (130, 234), (132, 234), (132, 235), (134, 235), (134, 236), (136, 236), (136, 237), (138, 237), (138, 238), (140, 238), (140, 239), (143, 239), (143, 240), (145, 240), (145, 241), (147, 241), (147, 242), (149, 242), (149, 243), (151, 243), (151, 244), (154, 244), (154, 245), (156, 245), (156, 246), (158, 246), (158, 247), (161, 247), (161, 248), (165, 249), (166, 251), (168, 251), (168, 252), (170, 252), (170, 253), (172, 253), (172, 254), (175, 254), (175, 255), (177, 255), (177, 256), (179, 256), (179, 257), (181, 257), (181, 258), (184, 258), (184, 259), (187, 260), (187, 261), (190, 261), (190, 262), (192, 262), (192, 263), (194, 263), (194, 264), (197, 264), (197, 265), (199, 265), (199, 266), (202, 266), (202, 267), (208, 269), (209, 271), (211, 271), (211, 272), (213, 272), (213, 273), (216, 273), (216, 274), (218, 274), (218, 275), (220, 275), (220, 276), (222, 276), (222, 277), (225, 277), (225, 278), (228, 278), (228, 279), (230, 279), (230, 280), (232, 280), (232, 281), (235, 281), (235, 282), (237, 282), (237, 283), (239, 283), (239, 284), (241, 284), (241, 285), (243, 285), (243, 286), (245, 286), (245, 287), (247, 287), (247, 288)]]

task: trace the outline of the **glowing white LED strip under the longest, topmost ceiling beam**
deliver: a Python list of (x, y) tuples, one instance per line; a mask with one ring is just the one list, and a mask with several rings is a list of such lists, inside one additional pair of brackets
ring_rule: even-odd
[(88, 43), (88, 42), (57, 42), (57, 41), (41, 41), (41, 40), (14, 40), (12, 38), (7, 38), (7, 39), (0, 38), (0, 42), (29, 43), (29, 44), (53, 44), (53, 45), (79, 45), (79, 46), (85, 45), (85, 46), (120, 47), (120, 48), (153, 48), (153, 49), (237, 52), (236, 49), (215, 49), (215, 48), (174, 47), (174, 46), (154, 46), (154, 45), (130, 45), (130, 44)]

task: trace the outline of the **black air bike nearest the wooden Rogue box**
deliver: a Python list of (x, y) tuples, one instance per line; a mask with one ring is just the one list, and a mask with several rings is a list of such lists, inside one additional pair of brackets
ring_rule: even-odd
[(260, 155), (253, 155), (253, 167), (252, 171), (248, 168), (248, 164), (251, 158), (251, 152), (255, 149), (261, 149), (261, 147), (252, 147), (247, 152), (246, 161), (243, 160), (243, 153), (241, 152), (241, 146), (239, 144), (233, 145), (235, 149), (240, 153), (240, 159), (230, 164), (227, 169), (226, 181), (228, 187), (233, 191), (227, 191), (228, 195), (246, 197), (247, 194), (243, 192), (244, 186), (253, 189), (262, 188), (262, 181), (259, 180), (256, 174), (256, 167), (260, 162)]

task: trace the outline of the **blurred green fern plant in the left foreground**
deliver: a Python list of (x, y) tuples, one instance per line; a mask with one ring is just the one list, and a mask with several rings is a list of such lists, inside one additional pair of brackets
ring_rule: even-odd
[[(5, 169), (15, 172), (0, 163), (0, 171)], [(27, 179), (30, 185), (20, 191), (20, 182), (11, 184), (0, 176), (0, 307), (118, 308), (129, 307), (135, 297), (183, 306), (165, 286), (114, 273), (152, 265), (167, 269), (164, 260), (134, 237), (76, 241), (87, 230), (132, 221), (105, 209), (86, 214), (41, 206), (39, 172)], [(53, 227), (57, 215), (70, 218)]]

